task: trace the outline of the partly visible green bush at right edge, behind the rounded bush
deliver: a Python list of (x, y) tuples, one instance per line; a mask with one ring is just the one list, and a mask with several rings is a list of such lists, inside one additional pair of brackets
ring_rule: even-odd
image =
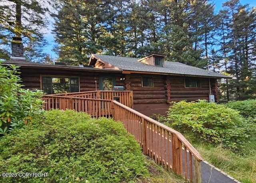
[(243, 101), (230, 101), (226, 104), (229, 108), (240, 111), (246, 118), (254, 118), (256, 121), (256, 99)]

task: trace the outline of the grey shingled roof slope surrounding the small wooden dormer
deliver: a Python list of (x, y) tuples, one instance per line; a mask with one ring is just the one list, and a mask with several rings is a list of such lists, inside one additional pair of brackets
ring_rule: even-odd
[(177, 74), (177, 75), (193, 75), (193, 76), (203, 76), (203, 77), (218, 77), (218, 78), (230, 78), (228, 76), (222, 75), (220, 73), (209, 72), (197, 67), (192, 67), (179, 62), (165, 61), (164, 67), (158, 67), (153, 65), (147, 65), (138, 62), (137, 58), (129, 57), (119, 57), (110, 55), (97, 55), (92, 54), (95, 57), (110, 63), (114, 67), (126, 71), (142, 71), (142, 72), (153, 72), (153, 73), (167, 73), (167, 74)]

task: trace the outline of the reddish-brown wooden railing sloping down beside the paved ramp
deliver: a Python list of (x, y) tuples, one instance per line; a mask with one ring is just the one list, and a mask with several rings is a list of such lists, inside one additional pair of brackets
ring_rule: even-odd
[(202, 182), (202, 157), (180, 132), (119, 102), (113, 101), (113, 108), (114, 119), (121, 121), (127, 131), (134, 135), (145, 155), (173, 169), (190, 182)]

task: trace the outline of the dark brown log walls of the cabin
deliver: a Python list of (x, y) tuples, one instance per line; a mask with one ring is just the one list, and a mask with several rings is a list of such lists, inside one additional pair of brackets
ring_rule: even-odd
[[(21, 68), (22, 84), (25, 89), (42, 89), (41, 77), (79, 77), (80, 92), (99, 90), (99, 78), (106, 73), (96, 71), (67, 71), (60, 69), (31, 69)], [(125, 90), (134, 93), (134, 109), (143, 114), (152, 113), (166, 114), (170, 102), (180, 100), (209, 100), (210, 86), (209, 78), (199, 78), (201, 88), (186, 88), (183, 76), (171, 75), (148, 75), (143, 73), (109, 73), (114, 76), (116, 86), (124, 86)], [(154, 87), (142, 87), (142, 76), (153, 78)], [(191, 78), (191, 77), (190, 77)], [(192, 77), (193, 78), (193, 77)], [(95, 82), (96, 81), (96, 82)], [(218, 85), (216, 79), (210, 79), (211, 94), (215, 95), (218, 102)]]

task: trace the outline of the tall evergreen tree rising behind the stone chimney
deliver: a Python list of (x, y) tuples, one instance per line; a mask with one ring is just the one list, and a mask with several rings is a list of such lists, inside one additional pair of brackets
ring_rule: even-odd
[[(42, 41), (48, 8), (38, 0), (4, 0), (0, 4), (0, 54), (5, 59), (10, 49), (12, 36), (26, 41)], [(45, 7), (44, 7), (45, 6)], [(26, 44), (24, 45), (26, 47)], [(8, 50), (8, 49), (7, 49)]]

